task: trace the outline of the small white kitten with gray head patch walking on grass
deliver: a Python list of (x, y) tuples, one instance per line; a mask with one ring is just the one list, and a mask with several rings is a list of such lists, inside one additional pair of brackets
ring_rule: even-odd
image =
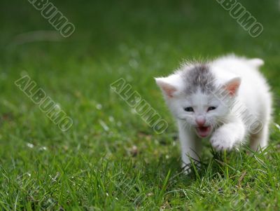
[(228, 55), (155, 79), (178, 122), (183, 167), (190, 157), (198, 161), (205, 137), (217, 151), (239, 147), (246, 137), (254, 151), (267, 146), (272, 95), (258, 72), (263, 63)]

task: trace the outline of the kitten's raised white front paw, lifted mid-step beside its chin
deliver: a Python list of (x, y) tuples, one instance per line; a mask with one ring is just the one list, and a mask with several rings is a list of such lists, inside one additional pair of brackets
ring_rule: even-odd
[(244, 141), (246, 126), (236, 118), (230, 123), (221, 125), (212, 135), (210, 142), (216, 150), (231, 150)]

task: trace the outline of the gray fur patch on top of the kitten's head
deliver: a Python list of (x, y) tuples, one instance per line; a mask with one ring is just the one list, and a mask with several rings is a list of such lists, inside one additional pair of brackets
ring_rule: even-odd
[(199, 89), (202, 93), (214, 93), (215, 77), (207, 64), (195, 64), (190, 69), (185, 69), (182, 75), (184, 81), (186, 81), (185, 93), (187, 95), (196, 93)]

